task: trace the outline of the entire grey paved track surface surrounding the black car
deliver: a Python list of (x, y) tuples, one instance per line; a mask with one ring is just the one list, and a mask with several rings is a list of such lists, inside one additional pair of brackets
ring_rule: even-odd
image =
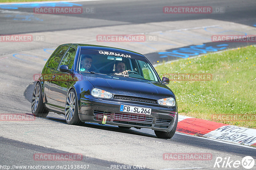
[[(46, 60), (60, 44), (88, 43), (125, 48), (145, 54), (152, 63), (179, 59), (172, 55), (166, 57), (164, 53), (181, 47), (211, 46), (215, 51), (221, 51), (256, 44), (211, 42), (211, 35), (220, 32), (256, 35), (255, 0), (105, 0), (69, 2), (68, 5), (81, 6), (85, 12), (35, 14), (31, 4), (0, 4), (0, 35), (33, 36), (32, 42), (0, 41), (0, 115), (26, 114), (30, 118), (30, 121), (0, 121), (0, 169), (7, 169), (7, 166), (26, 169), (16, 167), (23, 165), (72, 169), (71, 165), (83, 165), (83, 169), (97, 170), (231, 170), (245, 168), (242, 165), (228, 167), (224, 161), (220, 167), (214, 167), (217, 157), (233, 162), (241, 161), (245, 156), (256, 159), (256, 148), (178, 132), (172, 139), (166, 140), (156, 138), (154, 131), (149, 129), (125, 130), (90, 123), (83, 126), (68, 125), (64, 116), (52, 112), (46, 118), (33, 117), (30, 103), (36, 75), (40, 74)], [(164, 6), (223, 7), (225, 12), (165, 14)], [(91, 11), (86, 12), (86, 9)], [(147, 40), (99, 42), (96, 39), (99, 34), (135, 33), (146, 35)], [(75, 153), (83, 156), (81, 160), (39, 161), (35, 158), (37, 153)], [(207, 160), (164, 160), (164, 153), (208, 153), (212, 157)], [(131, 167), (127, 168), (128, 165)], [(251, 169), (256, 169), (256, 166)]]

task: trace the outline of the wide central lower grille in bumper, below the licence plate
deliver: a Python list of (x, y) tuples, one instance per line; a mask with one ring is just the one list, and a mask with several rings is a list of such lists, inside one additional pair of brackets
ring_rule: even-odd
[(145, 115), (131, 115), (123, 113), (115, 113), (115, 120), (124, 120), (124, 121), (138, 121), (138, 122), (148, 122), (152, 123), (154, 117), (146, 117)]

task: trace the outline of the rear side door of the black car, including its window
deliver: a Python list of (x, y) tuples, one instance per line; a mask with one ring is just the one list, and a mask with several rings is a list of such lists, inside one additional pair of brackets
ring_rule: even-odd
[(44, 77), (47, 77), (47, 81), (44, 81), (44, 92), (47, 104), (54, 103), (54, 94), (50, 91), (52, 86), (52, 80), (54, 80), (53, 73), (58, 68), (60, 60), (62, 59), (63, 55), (68, 50), (68, 46), (60, 46), (58, 50), (52, 54), (51, 59), (47, 64), (47, 72), (45, 73)]

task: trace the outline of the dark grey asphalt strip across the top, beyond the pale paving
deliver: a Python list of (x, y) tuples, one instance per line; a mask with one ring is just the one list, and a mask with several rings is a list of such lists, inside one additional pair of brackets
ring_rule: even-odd
[[(202, 3), (202, 1), (168, 1), (163, 0), (156, 2), (154, 0), (131, 0), (131, 1), (88, 1), (74, 2), (81, 4), (84, 8), (94, 8), (94, 13), (85, 13), (72, 17), (72, 14), (56, 15), (48, 17), (48, 15), (37, 17), (38, 15), (28, 16), (31, 22), (22, 25), (20, 22), (12, 22), (14, 17), (19, 13), (11, 14), (8, 17), (1, 16), (1, 34), (10, 33), (31, 33), (45, 31), (59, 31), (79, 28), (94, 28), (101, 26), (123, 25), (123, 24), (143, 24), (150, 22), (163, 21), (184, 21), (194, 19), (218, 19), (222, 21), (230, 21), (244, 25), (255, 25), (255, 4), (253, 0), (239, 1), (211, 1)], [(225, 7), (225, 15), (223, 14), (163, 14), (164, 6), (212, 6)], [(1, 8), (0, 8), (1, 9)], [(6, 10), (2, 8), (2, 10)], [(8, 9), (9, 11), (28, 12), (33, 15), (31, 8)], [(21, 17), (21, 16), (20, 16)], [(19, 16), (18, 16), (19, 18)], [(23, 18), (20, 18), (23, 19)], [(40, 22), (43, 20), (43, 22)], [(40, 24), (39, 24), (40, 22)], [(8, 24), (9, 23), (9, 24)], [(12, 24), (10, 24), (12, 23)], [(170, 25), (172, 26), (172, 25)]]

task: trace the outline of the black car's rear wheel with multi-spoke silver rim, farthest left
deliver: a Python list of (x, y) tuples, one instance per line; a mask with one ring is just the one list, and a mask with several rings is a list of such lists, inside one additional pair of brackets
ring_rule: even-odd
[(49, 113), (44, 107), (42, 89), (38, 82), (36, 83), (32, 94), (31, 111), (36, 117), (46, 117)]

